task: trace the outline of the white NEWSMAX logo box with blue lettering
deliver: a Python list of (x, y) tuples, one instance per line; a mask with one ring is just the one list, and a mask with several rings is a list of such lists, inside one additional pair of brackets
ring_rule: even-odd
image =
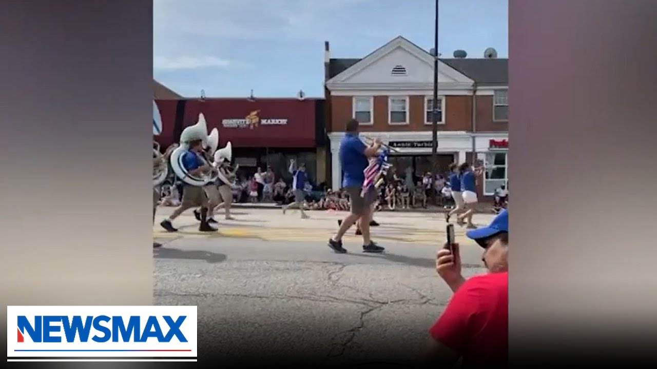
[(9, 306), (7, 358), (196, 357), (195, 306)]

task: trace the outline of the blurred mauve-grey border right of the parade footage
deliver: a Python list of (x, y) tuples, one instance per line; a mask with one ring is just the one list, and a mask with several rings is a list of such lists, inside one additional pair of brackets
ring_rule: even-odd
[(512, 364), (655, 359), (655, 19), (509, 1)]

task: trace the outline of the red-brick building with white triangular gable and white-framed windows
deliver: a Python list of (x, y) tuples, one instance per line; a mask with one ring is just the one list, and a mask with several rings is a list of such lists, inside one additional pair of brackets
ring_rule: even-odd
[[(328, 177), (339, 188), (339, 144), (346, 122), (399, 150), (397, 175), (431, 170), (434, 56), (399, 36), (360, 59), (331, 58), (325, 44), (325, 94), (330, 155)], [(438, 160), (486, 165), (480, 195), (508, 183), (508, 59), (441, 58), (438, 66)]]

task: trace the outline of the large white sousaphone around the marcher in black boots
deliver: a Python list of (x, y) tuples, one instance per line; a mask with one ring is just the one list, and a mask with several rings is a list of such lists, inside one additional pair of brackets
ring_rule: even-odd
[(208, 125), (203, 114), (198, 114), (198, 122), (185, 129), (180, 135), (180, 146), (173, 150), (170, 157), (173, 173), (187, 185), (205, 186), (210, 182), (207, 175), (190, 175), (183, 165), (183, 154), (189, 150), (189, 142), (200, 140), (203, 146), (208, 146)]

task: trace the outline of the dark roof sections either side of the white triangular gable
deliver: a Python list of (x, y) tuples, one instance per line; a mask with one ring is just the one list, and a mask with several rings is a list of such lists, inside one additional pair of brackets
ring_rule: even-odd
[[(332, 78), (344, 72), (362, 59), (332, 58), (328, 62), (328, 77)], [(509, 59), (475, 59), (450, 58), (440, 59), (443, 63), (461, 72), (479, 85), (509, 84)]]

